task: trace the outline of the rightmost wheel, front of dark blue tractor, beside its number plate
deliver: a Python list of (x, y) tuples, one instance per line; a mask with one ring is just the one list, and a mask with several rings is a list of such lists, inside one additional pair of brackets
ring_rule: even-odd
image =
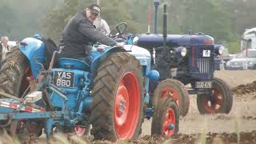
[(213, 78), (213, 95), (200, 94), (197, 105), (200, 114), (229, 114), (233, 105), (230, 86), (220, 78)]

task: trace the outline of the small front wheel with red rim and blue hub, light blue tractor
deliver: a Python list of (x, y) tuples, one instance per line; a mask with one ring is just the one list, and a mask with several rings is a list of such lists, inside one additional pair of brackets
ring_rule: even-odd
[(158, 110), (154, 111), (151, 134), (170, 138), (178, 134), (178, 107), (170, 97), (162, 98), (159, 104)]

